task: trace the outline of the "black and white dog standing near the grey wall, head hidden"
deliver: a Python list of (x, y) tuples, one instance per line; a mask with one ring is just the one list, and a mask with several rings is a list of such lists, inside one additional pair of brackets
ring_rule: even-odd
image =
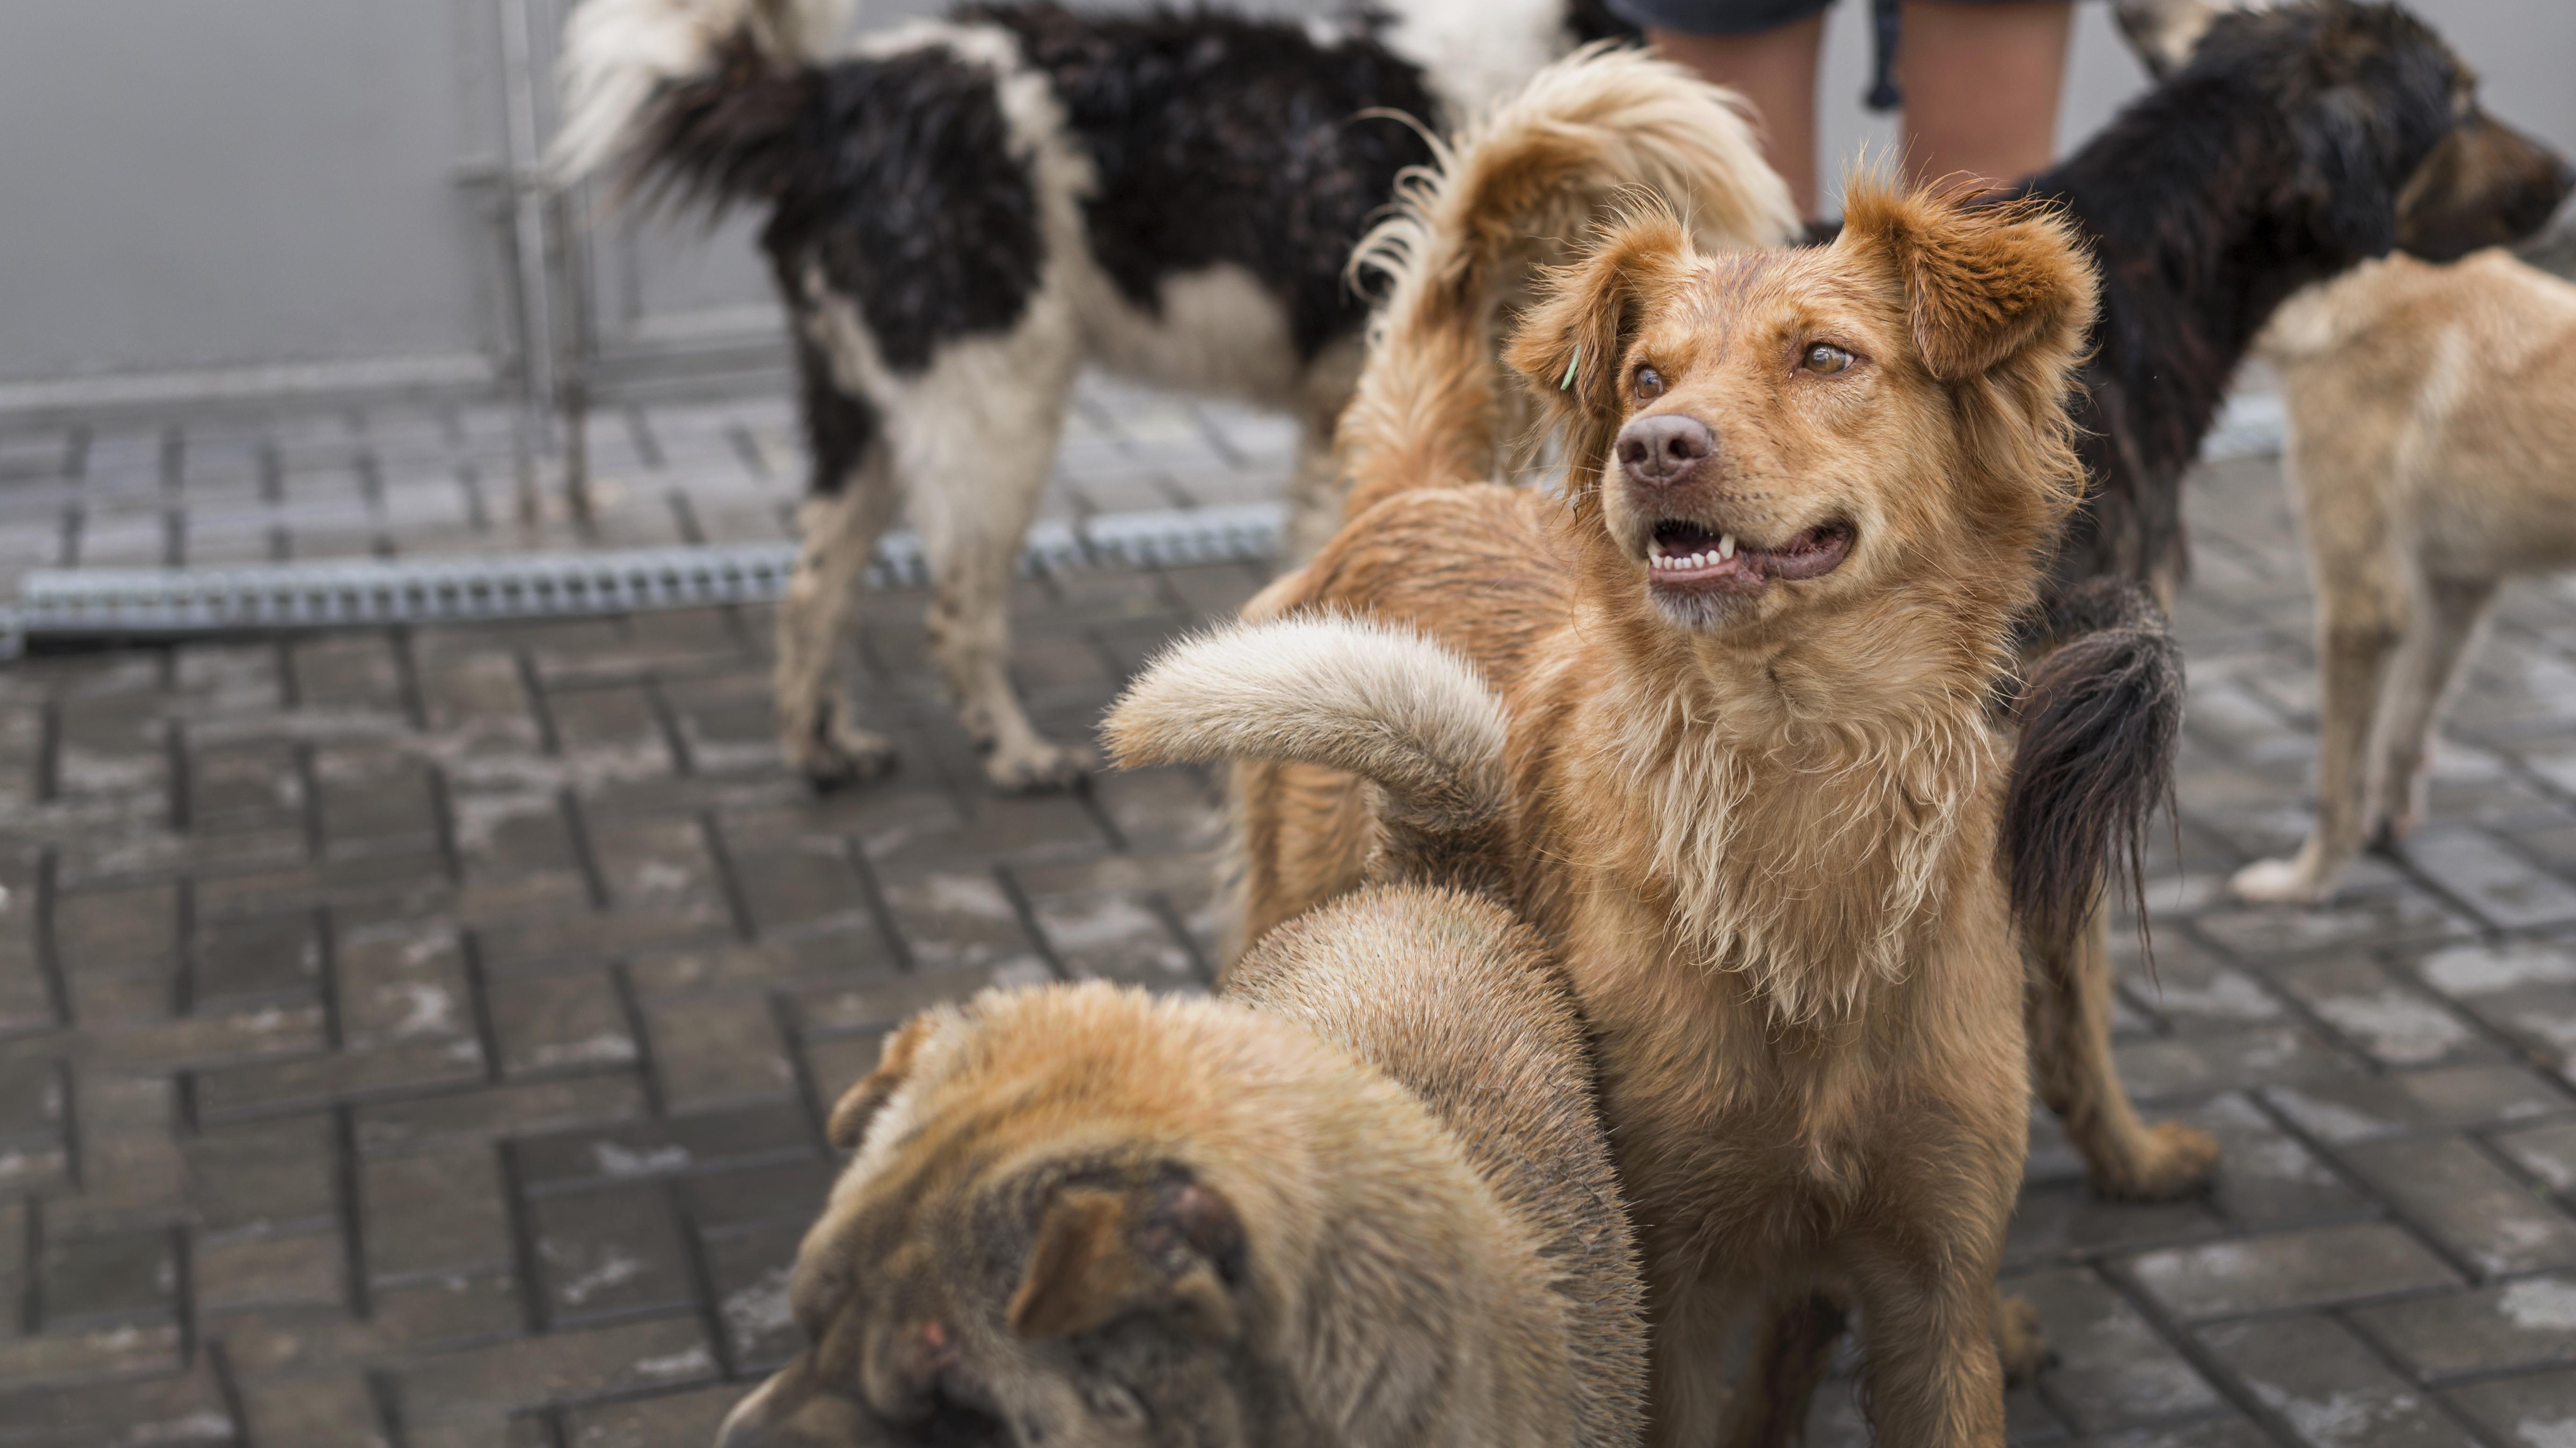
[[(1610, 26), (1589, 0), (1399, 0), (1337, 23), (969, 5), (845, 41), (848, 0), (585, 0), (567, 178), (768, 209), (814, 451), (778, 613), (778, 727), (824, 788), (891, 768), (835, 688), (896, 505), (933, 654), (997, 788), (1082, 778), (1010, 688), (1005, 598), (1082, 363), (1293, 412), (1293, 557), (1340, 518), (1360, 366), (1352, 242), (1430, 160), (1414, 124), (1515, 90)], [(1777, 198), (1780, 234), (1790, 209)], [(1780, 237), (1741, 237), (1770, 242)]]

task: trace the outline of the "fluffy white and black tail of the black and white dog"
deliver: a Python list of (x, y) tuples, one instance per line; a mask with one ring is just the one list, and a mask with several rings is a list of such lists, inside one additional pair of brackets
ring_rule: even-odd
[(814, 59), (853, 0), (582, 0), (564, 21), (556, 186), (690, 201), (775, 193), (796, 165)]

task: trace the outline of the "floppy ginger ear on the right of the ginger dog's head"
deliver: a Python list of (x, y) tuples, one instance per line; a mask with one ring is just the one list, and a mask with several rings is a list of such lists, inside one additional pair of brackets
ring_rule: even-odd
[(1914, 350), (1940, 381), (1984, 376), (2032, 345), (2081, 345), (2094, 276), (2071, 227), (2040, 206), (1852, 183), (1837, 247), (1873, 252), (1904, 286)]

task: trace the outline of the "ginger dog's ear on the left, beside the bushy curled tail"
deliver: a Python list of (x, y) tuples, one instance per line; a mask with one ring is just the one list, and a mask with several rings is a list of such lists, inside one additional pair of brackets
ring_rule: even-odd
[(1620, 425), (1620, 361), (1646, 317), (1690, 278), (1692, 260), (1682, 222), (1643, 206), (1605, 227), (1582, 260), (1551, 271), (1520, 317), (1504, 361), (1538, 394), (1548, 423), (1566, 428), (1566, 456), (1577, 466), (1610, 451)]

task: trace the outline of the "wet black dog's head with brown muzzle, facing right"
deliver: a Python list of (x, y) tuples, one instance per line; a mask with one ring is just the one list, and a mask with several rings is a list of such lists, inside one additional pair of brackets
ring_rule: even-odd
[(2259, 90), (2298, 147), (2293, 186), (2318, 240), (2352, 258), (2517, 242), (2576, 183), (2478, 106), (2476, 72), (2401, 5), (2120, 0), (2117, 18), (2154, 75)]

